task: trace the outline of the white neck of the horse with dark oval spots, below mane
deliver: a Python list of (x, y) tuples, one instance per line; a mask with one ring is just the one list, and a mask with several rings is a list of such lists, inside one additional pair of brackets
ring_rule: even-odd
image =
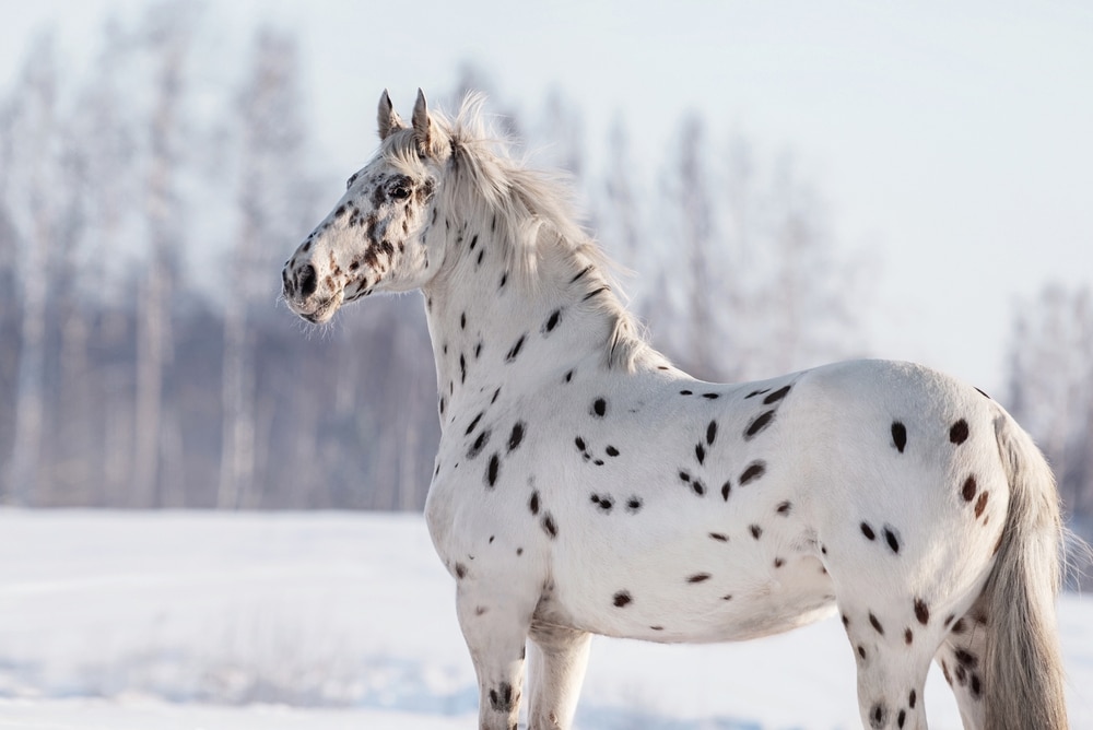
[(443, 270), (423, 287), (442, 429), (498, 389), (527, 392), (578, 367), (611, 366), (620, 322), (630, 337), (631, 319), (589, 249), (540, 227), (529, 274), (507, 239), (519, 226), (485, 214), (445, 228)]

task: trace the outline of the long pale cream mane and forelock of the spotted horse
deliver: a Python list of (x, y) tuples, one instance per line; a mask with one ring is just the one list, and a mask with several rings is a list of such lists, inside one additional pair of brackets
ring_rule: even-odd
[[(574, 275), (585, 272), (588, 293), (610, 290), (596, 297), (596, 306), (614, 321), (607, 343), (609, 367), (633, 372), (643, 361), (667, 364), (625, 307), (614, 275), (620, 267), (577, 222), (568, 177), (514, 158), (512, 144), (487, 125), (483, 102), (482, 95), (468, 94), (455, 118), (432, 113), (451, 153), (438, 207), (460, 211), (465, 220), (489, 221), (503, 247), (506, 269), (531, 294), (542, 284), (540, 262), (560, 255)], [(388, 138), (384, 154), (395, 164), (420, 164), (412, 144), (401, 136)]]

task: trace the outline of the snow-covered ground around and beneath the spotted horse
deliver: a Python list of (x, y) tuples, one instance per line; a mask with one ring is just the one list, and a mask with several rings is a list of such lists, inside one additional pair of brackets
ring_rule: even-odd
[[(421, 517), (0, 510), (0, 729), (475, 726), (453, 581)], [(1093, 599), (1059, 610), (1093, 728)], [(960, 719), (937, 672), (930, 727)], [(837, 621), (768, 639), (597, 639), (585, 730), (858, 728)]]

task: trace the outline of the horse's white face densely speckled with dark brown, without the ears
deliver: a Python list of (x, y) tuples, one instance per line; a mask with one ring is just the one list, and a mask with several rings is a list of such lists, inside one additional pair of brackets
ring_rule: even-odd
[(338, 205), (285, 263), (285, 302), (308, 321), (326, 322), (343, 303), (375, 291), (427, 281), (424, 229), (435, 181), (425, 165), (386, 150), (349, 178)]

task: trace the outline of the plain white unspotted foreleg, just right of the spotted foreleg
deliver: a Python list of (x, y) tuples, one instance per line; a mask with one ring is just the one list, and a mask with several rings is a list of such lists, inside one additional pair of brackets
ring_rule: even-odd
[(528, 652), (528, 730), (571, 727), (591, 638), (591, 634), (573, 628), (532, 625)]

